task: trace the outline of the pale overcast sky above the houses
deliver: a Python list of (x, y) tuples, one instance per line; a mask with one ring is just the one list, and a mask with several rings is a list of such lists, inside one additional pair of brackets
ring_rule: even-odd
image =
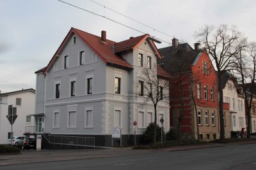
[[(172, 37), (122, 17), (90, 0), (63, 0), (121, 22), (164, 41)], [(195, 31), (204, 24), (237, 25), (249, 41), (256, 41), (255, 0), (94, 0), (156, 30), (193, 45)], [(35, 71), (47, 66), (71, 27), (123, 41), (140, 36), (115, 22), (57, 0), (0, 0), (0, 90), (35, 89)], [(169, 46), (162, 43), (157, 47)]]

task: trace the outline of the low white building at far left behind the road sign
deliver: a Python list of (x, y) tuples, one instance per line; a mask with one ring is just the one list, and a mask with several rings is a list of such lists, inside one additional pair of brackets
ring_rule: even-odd
[(18, 115), (13, 124), (13, 136), (24, 136), (25, 126), (34, 124), (31, 115), (35, 113), (35, 90), (0, 93), (0, 144), (7, 143), (11, 137), (11, 124), (6, 118), (9, 105), (17, 108)]

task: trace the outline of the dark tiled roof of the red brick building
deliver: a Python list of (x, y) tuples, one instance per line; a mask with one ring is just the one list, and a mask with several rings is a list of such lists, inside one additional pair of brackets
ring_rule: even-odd
[(179, 44), (175, 53), (173, 53), (172, 46), (160, 48), (159, 52), (163, 56), (163, 59), (157, 60), (157, 64), (161, 64), (161, 67), (170, 74), (179, 71), (191, 71), (191, 66), (201, 50), (193, 50), (188, 43), (183, 43)]

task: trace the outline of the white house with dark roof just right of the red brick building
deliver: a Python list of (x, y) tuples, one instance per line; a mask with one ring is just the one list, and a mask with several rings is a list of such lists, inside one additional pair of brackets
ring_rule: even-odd
[[(229, 103), (230, 110), (230, 131), (240, 131), (246, 128), (244, 95), (237, 88), (236, 78), (223, 73), (223, 102)], [(225, 86), (225, 87), (224, 87)], [(245, 129), (246, 130), (246, 129)]]

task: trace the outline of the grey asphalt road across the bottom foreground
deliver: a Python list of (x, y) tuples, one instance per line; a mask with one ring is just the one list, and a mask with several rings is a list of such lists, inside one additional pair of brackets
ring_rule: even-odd
[(0, 169), (256, 169), (256, 144), (18, 164)]

